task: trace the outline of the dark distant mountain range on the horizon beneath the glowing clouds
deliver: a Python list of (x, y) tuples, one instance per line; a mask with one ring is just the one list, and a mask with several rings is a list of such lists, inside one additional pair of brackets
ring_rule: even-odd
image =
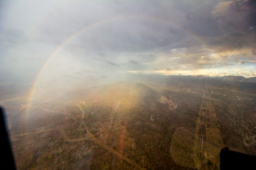
[(247, 92), (256, 92), (256, 77), (245, 78), (242, 76), (205, 77), (182, 76), (182, 75), (160, 75), (160, 74), (130, 74), (130, 80), (139, 82), (155, 82), (168, 86), (179, 86), (182, 88), (205, 87), (205, 83), (212, 88), (224, 88)]

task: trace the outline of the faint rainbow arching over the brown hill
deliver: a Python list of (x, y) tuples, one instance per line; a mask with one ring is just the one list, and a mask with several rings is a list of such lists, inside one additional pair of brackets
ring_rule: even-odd
[(34, 92), (35, 92), (35, 89), (37, 87), (37, 83), (42, 75), (42, 73), (44, 72), (45, 68), (47, 67), (47, 65), (49, 64), (49, 62), (51, 61), (51, 59), (56, 55), (56, 53), (59, 52), (59, 50), (62, 49), (63, 46), (65, 46), (67, 43), (69, 43), (70, 40), (76, 38), (78, 35), (80, 35), (81, 33), (91, 29), (91, 28), (95, 28), (99, 25), (102, 25), (102, 24), (105, 24), (105, 23), (108, 23), (108, 22), (112, 22), (112, 21), (118, 21), (118, 20), (121, 20), (121, 19), (145, 19), (145, 20), (151, 20), (151, 21), (157, 21), (157, 22), (162, 22), (162, 23), (165, 23), (167, 25), (171, 25), (172, 27), (175, 27), (175, 28), (178, 28), (178, 29), (181, 29), (183, 30), (184, 32), (186, 32), (187, 34), (189, 34), (191, 37), (193, 37), (195, 40), (197, 40), (199, 43), (201, 43), (202, 45), (204, 46), (208, 46), (207, 43), (204, 42), (203, 39), (201, 39), (198, 35), (195, 35), (194, 33), (190, 32), (187, 28), (183, 28), (182, 26), (172, 22), (172, 21), (166, 21), (162, 18), (155, 18), (155, 17), (149, 17), (149, 16), (120, 16), (120, 17), (115, 17), (115, 18), (109, 18), (109, 19), (105, 19), (105, 20), (102, 20), (102, 21), (98, 21), (98, 22), (95, 22), (91, 25), (88, 25), (80, 30), (78, 30), (77, 32), (73, 33), (71, 36), (69, 36), (66, 40), (64, 40), (52, 53), (51, 55), (48, 57), (48, 59), (45, 61), (45, 63), (43, 64), (43, 66), (41, 67), (40, 71), (38, 72), (37, 76), (36, 76), (36, 79), (35, 81), (33, 82), (33, 85), (32, 85), (32, 89), (31, 91), (29, 92), (29, 99), (28, 99), (28, 107), (27, 107), (27, 111), (26, 111), (26, 117), (28, 118), (29, 117), (29, 112), (30, 112), (30, 108), (31, 108), (31, 103), (32, 103), (32, 100), (33, 100), (33, 96), (34, 96)]

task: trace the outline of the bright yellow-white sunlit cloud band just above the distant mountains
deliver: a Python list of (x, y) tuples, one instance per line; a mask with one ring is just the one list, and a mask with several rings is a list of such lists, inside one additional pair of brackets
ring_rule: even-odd
[(205, 48), (178, 48), (171, 53), (157, 53), (156, 60), (144, 63), (147, 69), (130, 70), (133, 74), (204, 75), (222, 77), (227, 75), (255, 76), (256, 60), (248, 48), (239, 50), (207, 50)]

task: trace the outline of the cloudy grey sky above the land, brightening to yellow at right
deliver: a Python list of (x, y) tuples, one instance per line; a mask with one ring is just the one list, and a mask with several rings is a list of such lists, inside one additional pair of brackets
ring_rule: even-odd
[(256, 76), (248, 11), (220, 0), (3, 0), (0, 83)]

